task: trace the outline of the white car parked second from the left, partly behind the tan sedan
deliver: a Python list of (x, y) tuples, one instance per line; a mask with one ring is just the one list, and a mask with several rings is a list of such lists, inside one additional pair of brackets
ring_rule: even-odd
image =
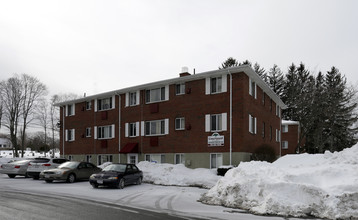
[(41, 171), (57, 168), (66, 161), (68, 160), (64, 158), (42, 158), (31, 161), (27, 168), (27, 175), (33, 179), (39, 179)]

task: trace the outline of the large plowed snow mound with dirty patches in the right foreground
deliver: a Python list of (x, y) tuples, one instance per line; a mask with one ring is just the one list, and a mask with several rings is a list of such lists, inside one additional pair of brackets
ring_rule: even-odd
[(200, 201), (257, 214), (358, 218), (358, 145), (341, 152), (287, 155), (229, 170)]

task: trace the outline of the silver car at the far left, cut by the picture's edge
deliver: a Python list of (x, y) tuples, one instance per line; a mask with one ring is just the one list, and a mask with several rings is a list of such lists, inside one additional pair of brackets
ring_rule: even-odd
[(34, 159), (24, 159), (11, 161), (9, 163), (4, 163), (1, 165), (0, 172), (7, 174), (10, 178), (15, 178), (16, 176), (25, 176), (29, 177), (27, 174), (27, 167), (31, 161), (35, 161), (39, 158)]

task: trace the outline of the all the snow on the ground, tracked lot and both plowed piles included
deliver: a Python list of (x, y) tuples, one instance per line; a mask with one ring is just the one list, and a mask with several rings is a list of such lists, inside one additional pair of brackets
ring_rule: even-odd
[[(24, 181), (28, 182), (26, 190), (124, 201), (148, 209), (164, 207), (216, 219), (268, 218), (242, 214), (242, 210), (261, 215), (358, 219), (358, 145), (335, 153), (287, 155), (274, 163), (245, 162), (224, 177), (217, 176), (215, 170), (183, 165), (140, 162), (138, 167), (144, 173), (144, 182), (150, 184), (123, 191), (95, 190), (88, 183)], [(9, 187), (16, 186), (16, 179), (0, 176), (0, 185), (6, 184), (4, 181)]]

